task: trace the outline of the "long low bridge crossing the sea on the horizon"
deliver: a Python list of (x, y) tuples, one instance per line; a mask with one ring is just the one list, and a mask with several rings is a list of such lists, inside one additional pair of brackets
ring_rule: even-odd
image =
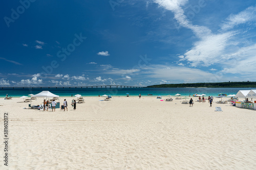
[(77, 87), (0, 87), (2, 89), (4, 88), (30, 88), (30, 89), (34, 89), (34, 88), (145, 88), (145, 87), (141, 87), (141, 86), (121, 86), (121, 85), (102, 85), (102, 86), (77, 86)]

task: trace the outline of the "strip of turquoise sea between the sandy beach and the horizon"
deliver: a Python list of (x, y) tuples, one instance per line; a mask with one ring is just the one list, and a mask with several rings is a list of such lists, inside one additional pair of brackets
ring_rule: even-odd
[(177, 93), (182, 96), (192, 96), (193, 94), (206, 94), (217, 96), (219, 93), (237, 94), (239, 90), (251, 90), (252, 88), (0, 88), (0, 97), (4, 98), (6, 94), (14, 98), (19, 98), (23, 95), (37, 94), (41, 91), (50, 91), (59, 96), (71, 96), (72, 94), (81, 94), (82, 96), (126, 96), (125, 93), (130, 93), (130, 96), (153, 94), (166, 96), (168, 94), (175, 95)]

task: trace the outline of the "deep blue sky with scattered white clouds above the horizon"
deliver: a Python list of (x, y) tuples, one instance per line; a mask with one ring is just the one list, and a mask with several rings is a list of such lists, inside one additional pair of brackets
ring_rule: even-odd
[(256, 81), (252, 0), (5, 1), (0, 86)]

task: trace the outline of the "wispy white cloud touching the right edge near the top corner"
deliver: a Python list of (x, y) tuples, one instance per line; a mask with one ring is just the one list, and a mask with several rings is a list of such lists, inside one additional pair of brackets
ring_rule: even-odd
[(233, 15), (231, 14), (227, 19), (227, 21), (221, 26), (222, 30), (230, 30), (233, 27), (236, 27), (240, 24), (244, 24), (246, 22), (256, 21), (256, 8), (249, 7), (246, 10)]

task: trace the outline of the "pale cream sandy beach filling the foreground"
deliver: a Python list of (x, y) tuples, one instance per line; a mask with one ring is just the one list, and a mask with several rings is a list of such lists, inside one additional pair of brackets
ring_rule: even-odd
[[(2, 141), (8, 112), (9, 169), (256, 169), (254, 110), (156, 96), (87, 97), (73, 110), (73, 98), (65, 99), (65, 112), (0, 99)], [(8, 169), (4, 148), (1, 142), (0, 169)]]

